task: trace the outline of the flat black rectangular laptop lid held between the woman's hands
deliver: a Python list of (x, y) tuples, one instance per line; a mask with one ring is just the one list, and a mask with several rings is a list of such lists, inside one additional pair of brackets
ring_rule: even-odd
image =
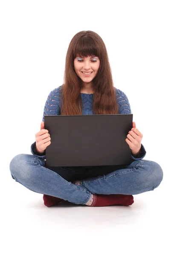
[(46, 166), (105, 166), (131, 162), (125, 139), (133, 114), (44, 116), (51, 144)]

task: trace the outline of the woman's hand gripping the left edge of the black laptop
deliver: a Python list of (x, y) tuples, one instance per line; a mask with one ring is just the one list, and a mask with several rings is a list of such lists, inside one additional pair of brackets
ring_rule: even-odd
[(36, 150), (39, 153), (43, 153), (51, 143), (50, 134), (48, 132), (48, 130), (44, 129), (44, 122), (41, 122), (41, 130), (35, 134)]

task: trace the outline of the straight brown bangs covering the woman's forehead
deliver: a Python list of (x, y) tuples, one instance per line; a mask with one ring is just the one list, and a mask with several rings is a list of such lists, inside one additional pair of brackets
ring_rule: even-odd
[(73, 58), (97, 56), (100, 58), (100, 49), (96, 41), (89, 36), (83, 36), (78, 39), (73, 48)]

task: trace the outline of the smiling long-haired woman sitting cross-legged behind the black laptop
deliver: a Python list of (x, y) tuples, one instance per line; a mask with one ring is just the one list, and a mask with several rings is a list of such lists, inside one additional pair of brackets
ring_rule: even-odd
[(131, 149), (129, 165), (46, 168), (45, 150), (51, 142), (44, 129), (45, 115), (117, 113), (129, 114), (131, 109), (125, 93), (113, 87), (105, 44), (95, 32), (78, 32), (67, 51), (64, 84), (47, 97), (32, 155), (19, 154), (12, 159), (12, 178), (43, 194), (48, 207), (63, 200), (95, 207), (133, 204), (133, 195), (154, 190), (163, 177), (158, 163), (142, 160), (146, 151), (135, 122), (125, 138)]

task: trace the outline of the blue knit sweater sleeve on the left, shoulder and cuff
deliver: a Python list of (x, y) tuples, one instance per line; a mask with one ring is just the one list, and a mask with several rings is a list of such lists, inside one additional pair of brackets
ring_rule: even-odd
[[(61, 86), (58, 88), (52, 90), (49, 93), (49, 96), (47, 97), (45, 106), (44, 106), (44, 111), (43, 111), (43, 118), (42, 121), (44, 122), (44, 116), (55, 116), (55, 115), (60, 115), (60, 89)], [(46, 151), (45, 151), (46, 152)], [(31, 145), (31, 153), (35, 157), (40, 157), (43, 160), (46, 159), (46, 154), (40, 154), (36, 151), (36, 142), (32, 143)]]

